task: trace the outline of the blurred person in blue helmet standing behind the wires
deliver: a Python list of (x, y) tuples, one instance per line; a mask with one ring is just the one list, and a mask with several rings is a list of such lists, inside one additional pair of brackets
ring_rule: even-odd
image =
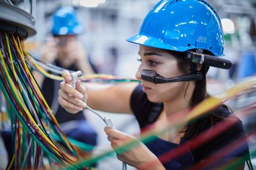
[[(83, 27), (77, 19), (75, 9), (73, 7), (61, 7), (54, 12), (52, 18), (51, 33), (53, 38), (49, 38), (45, 46), (41, 48), (41, 61), (68, 70), (93, 73), (87, 52), (77, 37), (83, 32)], [(85, 118), (84, 111), (74, 115), (66, 112), (59, 105), (57, 101), (60, 88), (59, 81), (43, 77), (38, 72), (34, 72), (34, 76), (63, 132), (75, 140), (96, 146), (97, 134)]]

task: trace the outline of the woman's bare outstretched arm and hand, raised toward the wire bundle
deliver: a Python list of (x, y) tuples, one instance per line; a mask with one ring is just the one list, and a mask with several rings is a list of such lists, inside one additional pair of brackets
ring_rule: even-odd
[(88, 86), (87, 89), (78, 80), (75, 89), (71, 85), (72, 78), (68, 71), (63, 71), (62, 77), (64, 81), (60, 83), (58, 101), (68, 112), (76, 114), (88, 104), (93, 109), (105, 112), (132, 113), (130, 96), (137, 83), (121, 83), (102, 88)]

